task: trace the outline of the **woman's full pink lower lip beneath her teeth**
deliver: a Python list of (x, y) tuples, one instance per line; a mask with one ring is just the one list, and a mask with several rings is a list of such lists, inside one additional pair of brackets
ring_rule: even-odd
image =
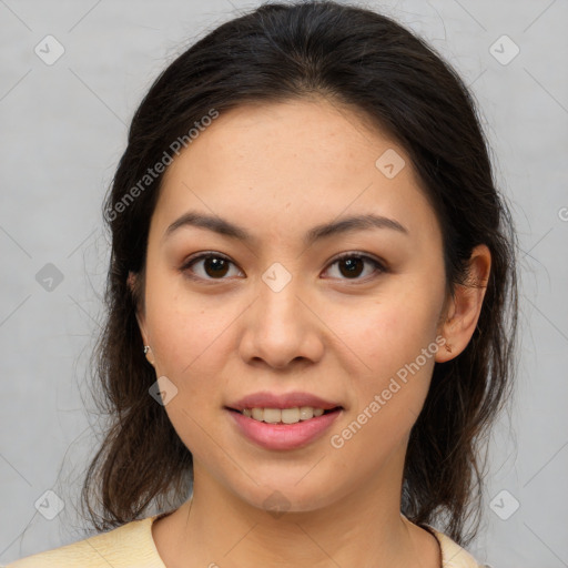
[(307, 446), (331, 427), (342, 409), (315, 416), (296, 424), (268, 424), (255, 420), (242, 413), (229, 410), (241, 432), (266, 449), (295, 449)]

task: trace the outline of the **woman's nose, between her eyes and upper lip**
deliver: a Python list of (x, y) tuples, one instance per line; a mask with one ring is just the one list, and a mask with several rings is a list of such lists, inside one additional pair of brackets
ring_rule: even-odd
[(260, 283), (258, 295), (243, 317), (243, 361), (256, 365), (264, 362), (276, 369), (293, 362), (320, 361), (325, 326), (310, 306), (305, 291), (294, 278), (283, 287), (273, 285), (270, 278), (266, 282)]

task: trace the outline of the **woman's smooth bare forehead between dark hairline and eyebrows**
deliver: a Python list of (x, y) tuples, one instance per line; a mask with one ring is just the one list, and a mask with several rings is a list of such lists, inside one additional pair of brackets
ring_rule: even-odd
[[(394, 176), (382, 170), (385, 155)], [(156, 222), (196, 209), (271, 231), (371, 212), (410, 227), (434, 223), (404, 149), (324, 100), (222, 112), (168, 168)]]

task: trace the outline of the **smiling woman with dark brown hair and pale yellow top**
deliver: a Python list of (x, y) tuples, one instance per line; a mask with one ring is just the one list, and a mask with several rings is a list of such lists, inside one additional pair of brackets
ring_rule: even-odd
[(429, 47), (335, 2), (221, 26), (142, 101), (104, 217), (105, 532), (10, 566), (478, 566), (514, 233)]

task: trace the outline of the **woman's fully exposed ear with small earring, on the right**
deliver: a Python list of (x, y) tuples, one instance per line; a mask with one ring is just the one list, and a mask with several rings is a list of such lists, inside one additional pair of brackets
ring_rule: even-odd
[(436, 353), (437, 363), (459, 355), (474, 335), (491, 268), (491, 253), (485, 244), (473, 250), (468, 266), (466, 282), (455, 285), (454, 295), (447, 302), (446, 315), (438, 329), (446, 344)]

